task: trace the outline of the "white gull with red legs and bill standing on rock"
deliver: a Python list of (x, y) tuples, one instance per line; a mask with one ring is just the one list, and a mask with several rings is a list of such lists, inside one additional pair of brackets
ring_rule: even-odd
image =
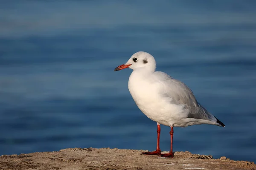
[[(151, 54), (139, 51), (114, 71), (124, 68), (133, 69), (129, 77), (128, 89), (134, 102), (149, 119), (157, 122), (157, 149), (143, 154), (174, 157), (173, 127), (201, 124), (225, 127), (220, 120), (200, 105), (187, 85), (164, 72), (155, 71), (156, 61)], [(160, 124), (171, 127), (169, 153), (162, 154), (160, 150)]]

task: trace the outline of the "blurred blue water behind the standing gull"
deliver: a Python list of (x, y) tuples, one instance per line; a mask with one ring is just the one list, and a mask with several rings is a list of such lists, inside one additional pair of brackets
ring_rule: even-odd
[[(226, 127), (174, 128), (174, 150), (256, 161), (256, 1), (0, 1), (0, 155), (69, 147), (155, 150), (128, 91), (137, 51)], [(170, 148), (161, 126), (160, 148)]]

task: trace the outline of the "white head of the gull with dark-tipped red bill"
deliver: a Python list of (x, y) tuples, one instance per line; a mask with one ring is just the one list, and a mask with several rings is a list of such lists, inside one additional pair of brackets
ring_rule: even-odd
[(144, 70), (154, 72), (156, 69), (156, 61), (151, 54), (139, 51), (131, 56), (131, 58), (123, 65), (119, 65), (114, 71), (119, 71), (124, 68), (143, 68)]

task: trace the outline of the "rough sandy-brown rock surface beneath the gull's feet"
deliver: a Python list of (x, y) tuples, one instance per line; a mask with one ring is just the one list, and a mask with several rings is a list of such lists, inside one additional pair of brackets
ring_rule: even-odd
[(69, 148), (0, 156), (0, 170), (256, 170), (249, 161), (175, 152), (174, 158), (145, 156), (145, 150)]

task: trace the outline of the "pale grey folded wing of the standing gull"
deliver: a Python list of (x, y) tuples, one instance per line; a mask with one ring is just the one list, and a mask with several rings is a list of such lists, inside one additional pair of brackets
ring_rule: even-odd
[(183, 82), (173, 79), (167, 74), (162, 82), (165, 86), (165, 93), (172, 98), (172, 102), (177, 105), (185, 105), (185, 108), (189, 110), (188, 118), (217, 121), (206, 108), (197, 102), (192, 90)]

